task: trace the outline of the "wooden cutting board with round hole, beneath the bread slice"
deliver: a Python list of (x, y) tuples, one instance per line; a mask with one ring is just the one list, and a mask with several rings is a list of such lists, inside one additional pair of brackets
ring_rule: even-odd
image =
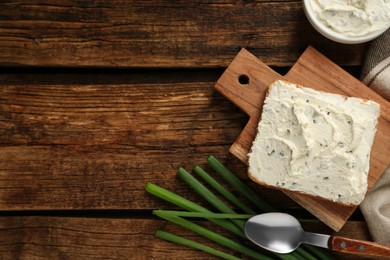
[[(247, 113), (250, 119), (234, 141), (230, 152), (247, 163), (247, 154), (256, 136), (267, 86), (277, 79), (326, 92), (371, 99), (380, 104), (381, 116), (371, 151), (368, 179), (371, 188), (390, 164), (390, 103), (313, 47), (308, 47), (284, 76), (273, 71), (245, 49), (234, 58), (215, 88)], [(341, 229), (356, 209), (356, 206), (340, 206), (300, 193), (285, 193), (335, 231)]]

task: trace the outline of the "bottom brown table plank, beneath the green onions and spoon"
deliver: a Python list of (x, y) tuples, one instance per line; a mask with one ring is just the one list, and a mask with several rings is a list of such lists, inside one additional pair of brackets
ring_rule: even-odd
[[(200, 222), (222, 235), (237, 239), (226, 231)], [(326, 232), (319, 223), (304, 224), (306, 230)], [(348, 222), (345, 235), (369, 239), (362, 222)], [(162, 220), (63, 218), (63, 217), (0, 217), (1, 259), (214, 259), (210, 255), (154, 237), (156, 230), (165, 230), (206, 243), (230, 253), (181, 227)], [(260, 249), (261, 250), (261, 249)], [(239, 255), (237, 255), (239, 256)], [(335, 254), (337, 259), (348, 255)], [(365, 259), (355, 258), (354, 259)]]

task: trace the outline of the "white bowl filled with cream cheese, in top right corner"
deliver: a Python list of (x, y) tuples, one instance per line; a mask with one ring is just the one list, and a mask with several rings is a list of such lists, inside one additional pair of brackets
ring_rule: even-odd
[(390, 26), (390, 0), (304, 0), (306, 16), (325, 37), (362, 43)]

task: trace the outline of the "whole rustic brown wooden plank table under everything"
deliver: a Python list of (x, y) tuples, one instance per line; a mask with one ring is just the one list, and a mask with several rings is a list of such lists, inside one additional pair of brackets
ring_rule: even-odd
[[(176, 170), (210, 154), (313, 218), (249, 182), (228, 152), (248, 117), (214, 89), (242, 47), (285, 73), (308, 45), (359, 76), (367, 46), (322, 37), (301, 1), (1, 1), (0, 259), (209, 259), (154, 237), (204, 241), (144, 188), (209, 207)], [(359, 211), (338, 234), (370, 239)]]

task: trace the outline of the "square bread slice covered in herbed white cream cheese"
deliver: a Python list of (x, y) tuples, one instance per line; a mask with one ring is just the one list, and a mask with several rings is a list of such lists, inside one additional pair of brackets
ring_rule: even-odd
[(276, 81), (249, 156), (261, 183), (344, 204), (367, 191), (379, 105)]

